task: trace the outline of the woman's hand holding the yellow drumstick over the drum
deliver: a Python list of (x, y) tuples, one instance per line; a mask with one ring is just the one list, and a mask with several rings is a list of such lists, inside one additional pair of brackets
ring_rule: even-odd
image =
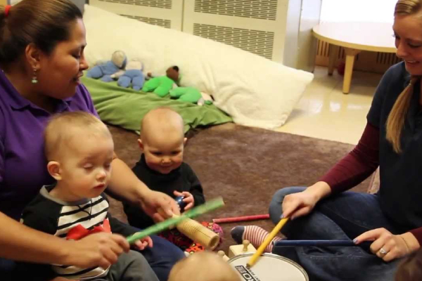
[(327, 183), (319, 181), (302, 192), (286, 195), (283, 200), (283, 217), (290, 219), (309, 214), (321, 198), (331, 193)]

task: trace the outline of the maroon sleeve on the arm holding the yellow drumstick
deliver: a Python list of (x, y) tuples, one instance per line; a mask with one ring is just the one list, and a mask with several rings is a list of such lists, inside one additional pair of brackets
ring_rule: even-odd
[(378, 168), (379, 136), (379, 129), (366, 123), (364, 133), (356, 147), (335, 164), (320, 181), (328, 183), (333, 194), (362, 183)]

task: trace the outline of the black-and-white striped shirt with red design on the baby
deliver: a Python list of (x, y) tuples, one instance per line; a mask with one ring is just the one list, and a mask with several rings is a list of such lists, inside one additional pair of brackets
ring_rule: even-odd
[[(108, 200), (101, 194), (91, 199), (64, 202), (51, 197), (53, 185), (41, 188), (39, 195), (24, 209), (21, 222), (26, 226), (65, 239), (78, 240), (89, 230), (103, 228), (113, 233), (129, 236), (138, 230), (113, 218), (108, 213)], [(71, 280), (91, 280), (107, 275), (108, 269), (100, 267), (51, 265), (56, 276)]]

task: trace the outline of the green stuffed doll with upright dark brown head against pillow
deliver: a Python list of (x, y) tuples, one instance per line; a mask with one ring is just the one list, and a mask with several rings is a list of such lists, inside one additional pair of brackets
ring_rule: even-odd
[(179, 81), (179, 67), (169, 67), (166, 76), (153, 77), (143, 84), (142, 91), (154, 92), (160, 97), (165, 97), (171, 89), (177, 87)]

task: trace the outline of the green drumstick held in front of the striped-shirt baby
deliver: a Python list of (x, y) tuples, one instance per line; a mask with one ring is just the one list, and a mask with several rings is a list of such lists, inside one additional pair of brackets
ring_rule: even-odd
[(154, 226), (150, 226), (149, 228), (146, 228), (145, 230), (139, 231), (139, 233), (134, 233), (134, 235), (131, 235), (126, 238), (127, 242), (129, 242), (129, 244), (133, 244), (136, 240), (142, 239), (143, 237), (146, 237), (148, 235), (160, 233), (162, 230), (166, 230), (167, 228), (170, 228), (170, 226), (175, 226), (177, 225), (177, 223), (180, 223), (186, 218), (193, 218), (195, 216), (205, 214), (208, 211), (213, 211), (223, 206), (224, 206), (224, 201), (222, 197), (217, 197), (216, 199), (210, 200), (206, 202), (205, 204), (202, 204), (198, 207), (185, 211), (184, 214), (181, 214), (181, 216), (178, 216), (175, 218), (168, 218), (167, 220), (157, 223)]

